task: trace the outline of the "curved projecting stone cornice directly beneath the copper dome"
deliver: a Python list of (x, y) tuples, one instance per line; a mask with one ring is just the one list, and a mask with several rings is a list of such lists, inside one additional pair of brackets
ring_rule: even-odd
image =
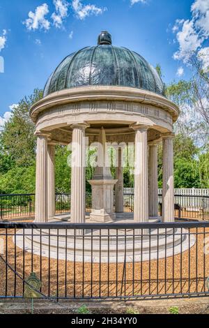
[(74, 89), (66, 89), (49, 94), (35, 103), (30, 110), (31, 119), (36, 124), (38, 115), (45, 110), (57, 105), (66, 105), (68, 103), (79, 103), (82, 101), (126, 101), (133, 103), (144, 103), (162, 108), (171, 113), (173, 122), (178, 119), (180, 114), (179, 108), (176, 104), (164, 96), (160, 96), (151, 91), (144, 89), (136, 89), (130, 87), (77, 87)]

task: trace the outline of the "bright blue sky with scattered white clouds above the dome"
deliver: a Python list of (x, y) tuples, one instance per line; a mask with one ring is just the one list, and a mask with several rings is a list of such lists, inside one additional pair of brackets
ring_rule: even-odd
[[(5, 112), (11, 105), (36, 87), (43, 88), (63, 57), (95, 45), (104, 29), (111, 33), (114, 45), (139, 52), (153, 66), (160, 63), (164, 82), (187, 79), (189, 68), (179, 53), (185, 36), (177, 33), (187, 28), (185, 22), (191, 22), (192, 4), (206, 5), (199, 9), (209, 13), (208, 2), (1, 0), (0, 56), (4, 59), (4, 73), (0, 73), (0, 125), (9, 117)], [(195, 43), (194, 38), (192, 41)]]

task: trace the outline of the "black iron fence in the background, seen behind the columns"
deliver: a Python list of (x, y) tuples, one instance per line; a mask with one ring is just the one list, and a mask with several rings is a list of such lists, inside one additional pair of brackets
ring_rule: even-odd
[[(124, 212), (134, 211), (134, 195), (124, 194)], [(162, 214), (162, 195), (159, 195), (159, 215)], [(175, 195), (175, 217), (183, 220), (209, 221), (209, 196)], [(86, 193), (86, 211), (91, 211), (91, 194)], [(56, 214), (70, 211), (70, 193), (56, 194)], [(0, 195), (0, 220), (31, 218), (35, 214), (34, 194)]]

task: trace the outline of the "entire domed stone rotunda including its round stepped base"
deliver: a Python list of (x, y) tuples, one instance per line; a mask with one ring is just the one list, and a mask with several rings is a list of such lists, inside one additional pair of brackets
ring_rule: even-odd
[[(97, 46), (66, 57), (49, 77), (44, 97), (31, 107), (37, 135), (35, 221), (54, 224), (49, 229), (47, 224), (40, 225), (45, 228), (33, 229), (32, 236), (30, 230), (25, 234), (20, 231), (15, 240), (17, 246), (50, 258), (91, 263), (154, 260), (192, 247), (195, 237), (189, 241), (182, 228), (160, 225), (147, 231), (141, 228), (144, 225), (132, 225), (159, 221), (157, 145), (160, 142), (163, 147), (160, 220), (174, 222), (173, 123), (178, 114), (178, 107), (165, 97), (164, 84), (156, 70), (136, 52), (111, 45), (107, 31), (100, 33)], [(116, 179), (109, 170), (107, 143), (114, 144), (118, 151)], [(122, 158), (124, 145), (129, 143), (134, 144), (132, 218), (123, 214)], [(88, 225), (73, 224), (59, 232), (54, 190), (56, 144), (71, 144), (72, 150), (68, 221), (88, 221)], [(98, 161), (89, 181), (93, 204), (90, 216), (86, 216), (86, 147), (95, 144), (98, 144)], [(98, 223), (105, 223), (104, 228)], [(107, 223), (110, 223), (108, 228)]]

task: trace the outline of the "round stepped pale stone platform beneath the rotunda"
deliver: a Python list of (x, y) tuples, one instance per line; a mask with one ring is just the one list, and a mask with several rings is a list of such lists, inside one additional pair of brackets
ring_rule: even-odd
[[(118, 218), (114, 222), (133, 223), (133, 220)], [(34, 229), (33, 254), (40, 255), (41, 251), (43, 257), (49, 257), (50, 253), (50, 258), (73, 262), (141, 262), (177, 255), (187, 251), (189, 246), (194, 246), (196, 242), (193, 235), (190, 235), (189, 241), (187, 230), (184, 229), (182, 234), (181, 229), (174, 229), (174, 233), (173, 228), (151, 229), (150, 235), (141, 237), (141, 230), (135, 230), (133, 233), (130, 229), (126, 231), (118, 229), (117, 232), (114, 229), (114, 223), (111, 230), (102, 229), (101, 232), (100, 230), (85, 230), (84, 237), (82, 235), (75, 237), (74, 230), (66, 232), (65, 229), (59, 229), (59, 240), (57, 240), (57, 231), (51, 229), (49, 237), (49, 230), (44, 229), (40, 234), (40, 230)], [(24, 243), (22, 233), (22, 230), (17, 232), (16, 244), (20, 248), (23, 248), (24, 244), (25, 251), (31, 253), (32, 231), (30, 229), (24, 231)]]

